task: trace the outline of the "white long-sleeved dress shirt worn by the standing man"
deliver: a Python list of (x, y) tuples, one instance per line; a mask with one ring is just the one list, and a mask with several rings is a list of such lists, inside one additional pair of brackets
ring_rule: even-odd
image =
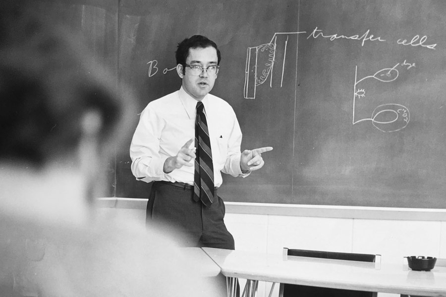
[[(226, 101), (208, 94), (202, 102), (211, 140), (214, 183), (220, 187), (221, 172), (234, 177), (248, 175), (240, 169), (242, 133), (234, 110)], [(131, 169), (137, 180), (193, 185), (194, 166), (182, 166), (170, 173), (164, 173), (163, 167), (168, 157), (175, 156), (187, 141), (195, 138), (196, 105), (197, 100), (181, 87), (146, 106), (130, 145)], [(192, 148), (194, 144), (193, 141)]]

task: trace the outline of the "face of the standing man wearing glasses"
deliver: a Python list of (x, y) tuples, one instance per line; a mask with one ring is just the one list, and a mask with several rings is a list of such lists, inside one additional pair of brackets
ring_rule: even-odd
[[(189, 55), (186, 59), (188, 65), (198, 65), (201, 67), (208, 67), (217, 65), (218, 57), (217, 50), (213, 47), (189, 49)], [(202, 71), (200, 75), (192, 75), (191, 69), (185, 67), (185, 74), (178, 71), (178, 74), (183, 79), (183, 89), (192, 98), (201, 101), (214, 87), (217, 74), (209, 74), (207, 71)]]

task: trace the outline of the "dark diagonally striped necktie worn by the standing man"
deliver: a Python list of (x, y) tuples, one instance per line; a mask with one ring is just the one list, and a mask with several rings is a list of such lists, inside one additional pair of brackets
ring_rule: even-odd
[(203, 102), (197, 102), (195, 120), (195, 175), (194, 200), (201, 200), (206, 206), (214, 199), (214, 165), (212, 164), (211, 140), (209, 139), (208, 122), (204, 113)]

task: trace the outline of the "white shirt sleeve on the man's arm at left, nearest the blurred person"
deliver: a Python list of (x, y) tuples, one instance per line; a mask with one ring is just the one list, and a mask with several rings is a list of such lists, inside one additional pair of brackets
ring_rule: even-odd
[(150, 104), (140, 115), (138, 126), (130, 144), (131, 170), (137, 180), (144, 182), (162, 180), (166, 156), (161, 156), (160, 138), (164, 127), (161, 119)]

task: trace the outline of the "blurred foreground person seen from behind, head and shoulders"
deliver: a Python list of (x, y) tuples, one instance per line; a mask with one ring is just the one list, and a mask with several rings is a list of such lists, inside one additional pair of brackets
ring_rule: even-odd
[(134, 99), (28, 2), (0, 3), (0, 297), (216, 296), (167, 235), (91, 219)]

